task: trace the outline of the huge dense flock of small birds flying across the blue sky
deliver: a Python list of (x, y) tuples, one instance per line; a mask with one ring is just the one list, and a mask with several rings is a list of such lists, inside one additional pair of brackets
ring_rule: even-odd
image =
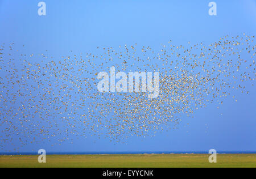
[[(254, 36), (225, 36), (210, 45), (97, 48), (60, 59), (0, 47), (0, 147), (61, 144), (96, 135), (115, 142), (174, 129), (181, 118), (213, 101), (223, 104), (233, 90), (249, 93), (255, 80)], [(25, 48), (23, 46), (23, 48)], [(159, 96), (148, 92), (98, 92), (97, 74), (159, 72)], [(233, 96), (234, 97), (234, 96)], [(235, 98), (235, 97), (234, 97)], [(236, 99), (235, 99), (236, 100)], [(19, 146), (17, 144), (20, 144)]]

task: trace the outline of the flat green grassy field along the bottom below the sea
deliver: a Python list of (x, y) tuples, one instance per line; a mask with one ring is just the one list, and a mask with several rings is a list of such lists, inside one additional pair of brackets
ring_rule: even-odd
[(141, 155), (47, 155), (38, 163), (36, 155), (0, 156), (0, 167), (256, 167), (256, 154), (218, 154), (217, 163), (207, 154)]

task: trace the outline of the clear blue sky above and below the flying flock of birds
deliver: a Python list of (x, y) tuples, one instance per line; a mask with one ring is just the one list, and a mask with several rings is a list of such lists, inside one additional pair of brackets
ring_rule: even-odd
[[(97, 46), (137, 43), (159, 48), (169, 40), (176, 45), (188, 41), (210, 44), (226, 35), (254, 36), (256, 32), (255, 0), (215, 0), (217, 16), (208, 14), (210, 1), (205, 0), (44, 0), (46, 16), (38, 15), (38, 2), (0, 0), (1, 44), (25, 45), (24, 54), (47, 49), (51, 56), (60, 58), (70, 50), (94, 53)], [(53, 147), (44, 141), (19, 151), (256, 151), (256, 95), (255, 88), (249, 90), (249, 95), (234, 92), (237, 102), (230, 95), (220, 109), (209, 104), (196, 110), (193, 118), (183, 117), (178, 129), (156, 133), (155, 137), (130, 137), (126, 144), (87, 137)], [(13, 151), (13, 146), (0, 152), (6, 150)]]

